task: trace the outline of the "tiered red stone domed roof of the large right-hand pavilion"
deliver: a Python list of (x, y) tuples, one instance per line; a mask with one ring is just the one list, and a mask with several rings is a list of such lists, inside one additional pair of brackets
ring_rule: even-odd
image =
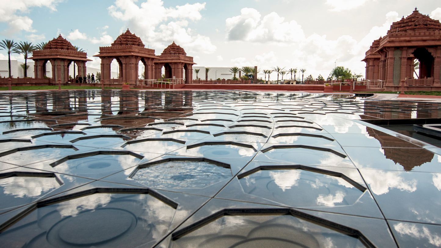
[(431, 19), (428, 15), (422, 15), (415, 8), (411, 15), (402, 18), (398, 22), (393, 22), (389, 33), (401, 33), (416, 30), (441, 30), (441, 23)]

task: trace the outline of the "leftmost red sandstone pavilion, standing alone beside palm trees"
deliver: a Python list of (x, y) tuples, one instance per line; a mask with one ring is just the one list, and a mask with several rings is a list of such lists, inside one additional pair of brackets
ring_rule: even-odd
[(85, 52), (78, 52), (75, 47), (63, 37), (58, 36), (45, 45), (43, 50), (35, 50), (32, 52), (34, 64), (34, 77), (44, 78), (46, 73), (46, 63), (50, 61), (52, 64), (52, 83), (56, 83), (59, 79), (66, 82), (69, 78), (69, 66), (76, 63), (78, 67), (78, 75), (86, 75), (87, 59)]

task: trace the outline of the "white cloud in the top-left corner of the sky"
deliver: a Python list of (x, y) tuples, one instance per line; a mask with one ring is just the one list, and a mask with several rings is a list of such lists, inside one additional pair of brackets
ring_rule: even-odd
[(0, 22), (6, 22), (9, 26), (8, 33), (19, 31), (35, 32), (32, 28), (32, 19), (23, 15), (31, 7), (48, 7), (56, 11), (56, 4), (62, 0), (14, 0), (3, 1), (0, 8)]

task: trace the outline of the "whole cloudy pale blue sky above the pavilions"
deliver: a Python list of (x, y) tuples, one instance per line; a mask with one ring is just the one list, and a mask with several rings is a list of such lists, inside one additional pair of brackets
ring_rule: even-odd
[(0, 0), (0, 6), (0, 40), (35, 44), (61, 34), (93, 59), (88, 67), (100, 68), (92, 56), (128, 28), (156, 55), (175, 41), (195, 66), (304, 68), (314, 78), (326, 78), (335, 66), (364, 77), (360, 60), (372, 41), (415, 7), (441, 20), (440, 0)]

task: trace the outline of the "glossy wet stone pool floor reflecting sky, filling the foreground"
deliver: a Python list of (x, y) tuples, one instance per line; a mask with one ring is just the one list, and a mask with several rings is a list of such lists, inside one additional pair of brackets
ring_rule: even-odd
[(0, 247), (441, 247), (435, 103), (0, 93)]

